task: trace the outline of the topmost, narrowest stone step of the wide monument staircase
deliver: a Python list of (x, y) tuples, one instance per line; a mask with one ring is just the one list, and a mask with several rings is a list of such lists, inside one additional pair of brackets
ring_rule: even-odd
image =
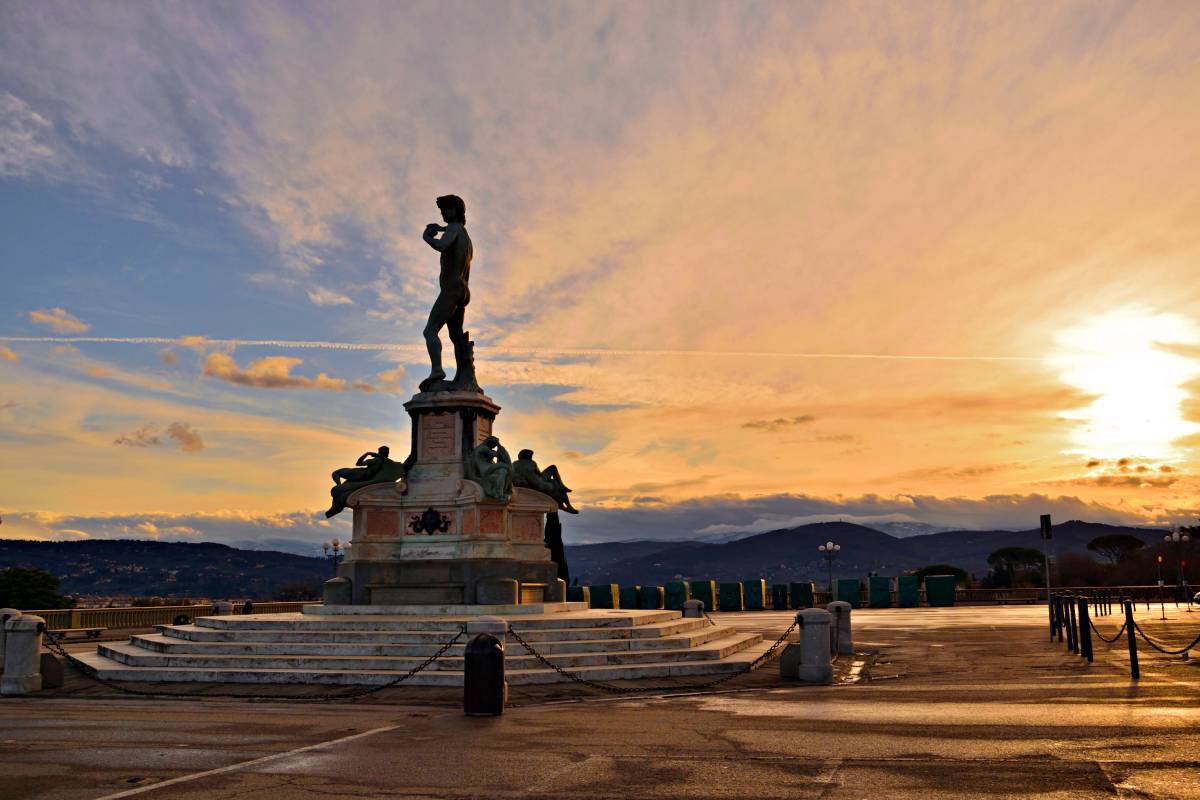
[[(215, 630), (258, 631), (455, 631), (472, 616), (421, 618), (384, 615), (316, 615), (316, 614), (230, 614), (226, 616), (198, 616), (196, 626)], [(518, 631), (572, 627), (640, 627), (656, 622), (682, 620), (679, 612), (640, 609), (592, 609), (589, 612), (563, 612), (557, 614), (530, 614), (514, 616), (510, 622)], [(695, 621), (695, 620), (692, 620)], [(702, 620), (701, 620), (702, 621)]]

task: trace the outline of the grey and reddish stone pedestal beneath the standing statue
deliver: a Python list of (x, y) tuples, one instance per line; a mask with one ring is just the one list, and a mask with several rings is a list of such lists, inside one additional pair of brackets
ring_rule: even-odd
[(337, 575), (350, 582), (350, 602), (494, 603), (500, 594), (505, 602), (542, 602), (547, 588), (553, 595), (558, 567), (542, 542), (557, 504), (524, 488), (508, 501), (488, 498), (467, 477), (466, 461), (492, 435), (500, 408), (461, 391), (421, 392), (404, 408), (413, 422), (406, 480), (347, 498), (354, 533)]

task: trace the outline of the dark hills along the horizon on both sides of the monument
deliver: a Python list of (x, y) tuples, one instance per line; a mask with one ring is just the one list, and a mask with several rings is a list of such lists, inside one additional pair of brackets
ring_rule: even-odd
[[(1072, 521), (1054, 527), (1054, 549), (1060, 555), (1084, 553), (1087, 542), (1106, 534), (1129, 534), (1147, 545), (1162, 537), (1157, 529)], [(664, 583), (676, 576), (823, 581), (826, 563), (817, 545), (830, 540), (841, 545), (834, 577), (899, 575), (930, 564), (950, 564), (983, 576), (988, 555), (1001, 547), (1043, 548), (1038, 530), (941, 530), (899, 536), (874, 527), (822, 522), (721, 542), (568, 545), (566, 559), (580, 583)], [(283, 588), (319, 591), (332, 572), (319, 557), (143, 540), (0, 540), (0, 569), (10, 566), (46, 570), (62, 581), (66, 594), (264, 600), (278, 596)]]

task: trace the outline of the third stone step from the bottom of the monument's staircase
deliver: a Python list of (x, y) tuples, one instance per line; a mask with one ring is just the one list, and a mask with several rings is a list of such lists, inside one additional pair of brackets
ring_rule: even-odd
[[(353, 656), (431, 656), (433, 655), (449, 638), (448, 633), (425, 633), (419, 637), (412, 636), (397, 636), (392, 634), (389, 640), (380, 640), (378, 636), (366, 637), (364, 634), (355, 634), (355, 638), (349, 642), (343, 640), (340, 637), (337, 640), (317, 634), (308, 636), (305, 639), (286, 639), (286, 640), (272, 640), (264, 639), (264, 636), (275, 636), (275, 632), (268, 633), (240, 633), (236, 638), (224, 638), (224, 639), (210, 639), (210, 638), (197, 638), (196, 633), (206, 633), (203, 631), (184, 631), (180, 630), (185, 626), (172, 627), (162, 626), (161, 633), (143, 634), (132, 637), (132, 642), (140, 648), (146, 650), (154, 650), (156, 652), (169, 652), (169, 654), (220, 654), (220, 655), (353, 655)], [(572, 633), (584, 633), (589, 628), (578, 628), (577, 631), (571, 631)], [(604, 628), (600, 628), (604, 632)], [(671, 650), (680, 648), (694, 648), (701, 644), (719, 639), (726, 636), (733, 634), (734, 628), (727, 626), (712, 626), (706, 625), (703, 627), (684, 631), (683, 633), (672, 633), (671, 636), (661, 637), (605, 637), (600, 639), (583, 639), (583, 638), (569, 638), (569, 639), (547, 639), (540, 638), (534, 639), (524, 637), (530, 644), (533, 644), (539, 651), (545, 654), (552, 652), (612, 652), (612, 651), (630, 651), (630, 650)], [(220, 631), (218, 633), (229, 633), (228, 631)], [(539, 631), (539, 633), (545, 634), (546, 631)], [(185, 636), (191, 634), (191, 636)], [(391, 640), (395, 638), (409, 639), (409, 640)], [(451, 652), (460, 651), (466, 646), (466, 640), (460, 644), (454, 645)], [(510, 643), (511, 646), (518, 646), (515, 642)]]

